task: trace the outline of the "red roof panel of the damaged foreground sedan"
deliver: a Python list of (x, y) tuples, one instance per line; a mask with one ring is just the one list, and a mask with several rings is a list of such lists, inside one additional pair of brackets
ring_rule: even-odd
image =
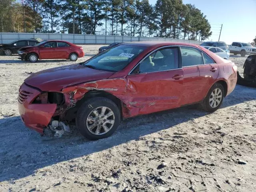
[(194, 46), (197, 47), (196, 44), (190, 43), (181, 43), (181, 42), (168, 42), (168, 41), (133, 41), (127, 42), (123, 45), (133, 45), (133, 46), (142, 46), (142, 47), (158, 47), (158, 46), (168, 46), (168, 45), (184, 45), (184, 46)]

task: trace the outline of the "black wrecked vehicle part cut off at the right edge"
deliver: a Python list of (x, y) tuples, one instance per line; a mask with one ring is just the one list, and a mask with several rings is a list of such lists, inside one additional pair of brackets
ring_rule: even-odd
[(256, 54), (249, 55), (244, 62), (244, 78), (239, 73), (237, 76), (237, 84), (256, 87)]

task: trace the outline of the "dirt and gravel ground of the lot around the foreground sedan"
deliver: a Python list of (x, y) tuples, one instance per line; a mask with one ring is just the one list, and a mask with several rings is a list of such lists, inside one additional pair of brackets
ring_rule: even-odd
[[(101, 45), (84, 46), (86, 56)], [(231, 56), (240, 72), (246, 57)], [(109, 138), (41, 137), (20, 120), (31, 72), (67, 65), (0, 56), (0, 191), (256, 191), (256, 89), (237, 85), (209, 114), (183, 107), (124, 120)]]

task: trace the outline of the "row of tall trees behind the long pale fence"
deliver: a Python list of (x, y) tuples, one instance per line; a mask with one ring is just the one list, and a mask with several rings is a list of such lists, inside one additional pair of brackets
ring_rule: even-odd
[(1, 0), (0, 32), (156, 36), (205, 40), (206, 16), (182, 0)]

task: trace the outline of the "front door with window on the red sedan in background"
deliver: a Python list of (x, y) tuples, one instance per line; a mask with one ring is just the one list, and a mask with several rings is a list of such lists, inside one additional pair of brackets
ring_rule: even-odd
[(40, 46), (39, 53), (41, 59), (57, 59), (56, 41), (46, 42)]

